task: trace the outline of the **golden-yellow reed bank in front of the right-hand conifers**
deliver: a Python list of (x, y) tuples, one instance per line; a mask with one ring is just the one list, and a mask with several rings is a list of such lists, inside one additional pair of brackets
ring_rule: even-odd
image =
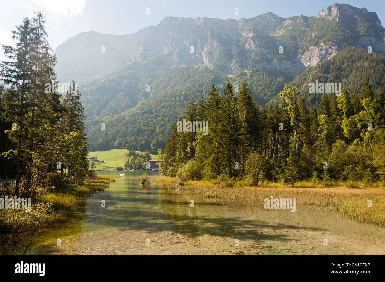
[[(310, 182), (291, 187), (282, 184), (266, 184), (260, 186), (221, 187), (208, 181), (187, 181), (180, 188), (174, 187), (176, 177), (156, 177), (151, 182), (164, 184), (167, 190), (181, 189), (176, 193), (198, 195), (231, 202), (242, 200), (264, 204), (265, 198), (296, 198), (296, 205), (325, 206), (344, 216), (359, 222), (376, 226), (385, 226), (385, 189), (383, 187), (349, 189), (340, 183), (333, 187), (316, 187)], [(312, 187), (313, 186), (313, 187)], [(368, 207), (371, 201), (372, 207)]]

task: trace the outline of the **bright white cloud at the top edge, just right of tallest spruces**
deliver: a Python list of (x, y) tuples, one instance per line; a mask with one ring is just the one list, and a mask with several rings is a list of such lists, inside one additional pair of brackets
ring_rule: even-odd
[(27, 10), (41, 10), (62, 17), (82, 16), (87, 0), (30, 0), (25, 5)]

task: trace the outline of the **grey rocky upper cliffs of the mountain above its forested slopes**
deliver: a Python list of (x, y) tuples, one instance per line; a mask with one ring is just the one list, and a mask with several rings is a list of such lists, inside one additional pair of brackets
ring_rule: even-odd
[[(384, 29), (375, 12), (347, 4), (322, 8), (315, 17), (273, 13), (239, 20), (166, 17), (129, 35), (80, 33), (57, 50), (61, 81), (80, 83), (112, 71), (146, 71), (206, 65), (233, 74), (253, 67), (298, 75), (333, 57), (344, 45), (385, 54)], [(105, 47), (105, 53), (102, 48)], [(65, 58), (65, 59), (64, 59)]]

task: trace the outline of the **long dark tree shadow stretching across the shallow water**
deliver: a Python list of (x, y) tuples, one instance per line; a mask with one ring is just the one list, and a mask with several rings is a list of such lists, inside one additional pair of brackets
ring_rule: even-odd
[[(92, 215), (86, 222), (119, 227), (120, 231), (146, 230), (147, 232), (169, 231), (189, 237), (201, 235), (225, 236), (242, 240), (293, 240), (294, 235), (277, 233), (279, 230), (320, 230), (314, 227), (299, 227), (288, 224), (270, 224), (263, 220), (240, 217), (216, 217), (206, 215), (171, 214), (158, 210), (119, 210), (111, 215)], [(273, 232), (272, 232), (273, 231)], [(274, 234), (272, 234), (274, 233)]]

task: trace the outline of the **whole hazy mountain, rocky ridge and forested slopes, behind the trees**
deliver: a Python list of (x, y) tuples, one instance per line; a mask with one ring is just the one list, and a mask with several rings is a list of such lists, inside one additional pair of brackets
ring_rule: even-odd
[(385, 30), (375, 12), (348, 4), (313, 17), (169, 16), (127, 35), (80, 33), (55, 55), (59, 81), (78, 82), (90, 150), (164, 148), (189, 100), (228, 79), (246, 80), (262, 106), (279, 102), (285, 83), (300, 88), (308, 107), (320, 101), (306, 88), (316, 79), (357, 93), (363, 81), (374, 90), (385, 83)]

